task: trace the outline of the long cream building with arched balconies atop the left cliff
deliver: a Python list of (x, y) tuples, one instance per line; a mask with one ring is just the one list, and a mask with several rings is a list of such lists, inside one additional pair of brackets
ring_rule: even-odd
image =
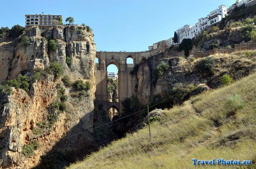
[(35, 25), (40, 26), (54, 26), (54, 25), (62, 25), (62, 16), (61, 15), (44, 15), (43, 14), (26, 14), (25, 15), (25, 23), (26, 27), (31, 27)]

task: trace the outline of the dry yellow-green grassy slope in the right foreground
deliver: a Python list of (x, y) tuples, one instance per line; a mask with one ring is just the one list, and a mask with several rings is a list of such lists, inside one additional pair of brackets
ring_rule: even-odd
[[(228, 116), (225, 101), (240, 94), (244, 108)], [(164, 110), (165, 118), (128, 134), (70, 169), (192, 168), (192, 159), (256, 158), (256, 73)], [(218, 168), (214, 166), (214, 168)]]

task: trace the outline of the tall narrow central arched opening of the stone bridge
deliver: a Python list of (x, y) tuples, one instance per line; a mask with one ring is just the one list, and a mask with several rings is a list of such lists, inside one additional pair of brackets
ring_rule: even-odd
[(108, 102), (119, 102), (118, 95), (118, 65), (110, 63), (107, 67)]

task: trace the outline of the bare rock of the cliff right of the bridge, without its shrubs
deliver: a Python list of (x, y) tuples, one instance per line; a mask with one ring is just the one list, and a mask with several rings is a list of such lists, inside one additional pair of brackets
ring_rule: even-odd
[[(247, 76), (256, 68), (255, 60), (245, 56), (244, 52), (230, 55), (216, 54), (211, 58), (215, 62), (215, 75), (212, 77), (204, 76), (195, 68), (199, 60), (190, 61), (180, 56), (173, 56), (172, 51), (152, 56), (137, 65), (137, 72), (132, 75), (132, 93), (143, 104), (157, 103), (164, 99), (173, 87), (193, 84), (197, 90), (191, 95), (195, 95), (209, 88), (220, 87), (224, 74), (229, 74), (235, 80)], [(169, 65), (169, 68), (154, 81), (154, 70), (163, 62)], [(178, 104), (183, 99), (188, 98), (175, 96), (171, 102)]]

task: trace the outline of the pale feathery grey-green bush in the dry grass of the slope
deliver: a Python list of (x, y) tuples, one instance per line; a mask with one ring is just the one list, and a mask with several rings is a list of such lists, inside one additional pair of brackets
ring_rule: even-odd
[(236, 110), (243, 108), (245, 105), (244, 100), (242, 99), (241, 95), (230, 95), (226, 99), (226, 110), (228, 113), (236, 113)]

